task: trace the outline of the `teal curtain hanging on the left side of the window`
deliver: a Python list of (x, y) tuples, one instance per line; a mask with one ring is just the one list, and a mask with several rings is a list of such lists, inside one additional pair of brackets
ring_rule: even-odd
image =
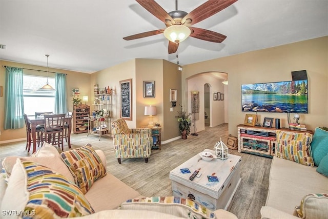
[(4, 129), (23, 128), (23, 114), (23, 69), (6, 66)]

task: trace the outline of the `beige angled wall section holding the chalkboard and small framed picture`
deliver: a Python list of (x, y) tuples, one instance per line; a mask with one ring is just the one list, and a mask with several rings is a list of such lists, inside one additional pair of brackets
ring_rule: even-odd
[[(170, 112), (170, 88), (178, 89), (181, 93), (181, 73), (178, 65), (162, 59), (137, 58), (131, 61), (95, 72), (91, 75), (90, 89), (98, 84), (99, 87), (113, 88), (113, 120), (119, 118), (120, 88), (119, 81), (132, 78), (132, 121), (126, 121), (130, 128), (145, 127), (149, 117), (144, 115), (145, 106), (156, 106), (157, 115), (153, 122), (161, 124), (161, 140), (166, 141), (179, 135), (176, 111)], [(144, 81), (155, 82), (155, 97), (144, 98)], [(180, 103), (181, 103), (181, 98)], [(94, 99), (92, 99), (94, 101)], [(165, 120), (164, 120), (165, 118)]]

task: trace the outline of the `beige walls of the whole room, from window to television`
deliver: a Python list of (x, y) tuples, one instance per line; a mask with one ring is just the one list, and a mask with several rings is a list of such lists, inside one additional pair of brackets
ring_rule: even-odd
[[(46, 70), (46, 67), (0, 60), (0, 66), (3, 65)], [(198, 90), (198, 88), (203, 91), (203, 84), (211, 80), (207, 79), (208, 76), (204, 74), (201, 75), (202, 78), (199, 81), (195, 81), (194, 85), (191, 86), (188, 85), (189, 78), (206, 72), (228, 73), (229, 85), (223, 88), (217, 87), (217, 92), (224, 90), (224, 104), (215, 103), (223, 104), (223, 109), (226, 112), (225, 117), (223, 120), (219, 118), (213, 125), (220, 124), (223, 121), (228, 122), (229, 133), (236, 135), (236, 126), (243, 123), (246, 114), (241, 112), (241, 84), (290, 81), (292, 79), (291, 71), (305, 69), (309, 78), (310, 113), (301, 114), (300, 122), (305, 123), (312, 130), (317, 126), (328, 126), (328, 36), (186, 65), (183, 66), (182, 73), (178, 71), (178, 67), (178, 65), (162, 59), (133, 59), (91, 75), (53, 68), (49, 68), (49, 71), (67, 74), (67, 100), (68, 110), (70, 111), (73, 110), (71, 93), (73, 88), (79, 88), (81, 96), (88, 95), (89, 102), (87, 104), (93, 108), (94, 85), (98, 84), (99, 87), (110, 86), (114, 93), (114, 118), (119, 117), (119, 81), (132, 78), (133, 121), (127, 121), (128, 126), (133, 128), (146, 125), (148, 119), (144, 115), (144, 107), (146, 105), (155, 105), (158, 113), (154, 118), (154, 122), (158, 121), (162, 125), (162, 141), (167, 141), (179, 135), (175, 116), (177, 111), (180, 110), (180, 105), (183, 108), (190, 108), (190, 91), (192, 89)], [(46, 76), (45, 72), (34, 73)], [(143, 81), (155, 81), (155, 98), (143, 97)], [(217, 83), (221, 84), (219, 80)], [(5, 68), (3, 67), (0, 67), (0, 86), (5, 89)], [(178, 91), (177, 106), (173, 108), (172, 112), (170, 111), (172, 107), (169, 97), (170, 89)], [(213, 95), (213, 92), (211, 95)], [(0, 142), (26, 138), (25, 128), (19, 130), (3, 129), (4, 99), (4, 96), (0, 97)], [(191, 111), (191, 108), (189, 110)], [(219, 106), (218, 111), (221, 110), (222, 106)], [(258, 115), (261, 123), (264, 117), (270, 116), (280, 118), (281, 126), (288, 127), (285, 113), (258, 113)], [(198, 129), (197, 123), (196, 127)]]

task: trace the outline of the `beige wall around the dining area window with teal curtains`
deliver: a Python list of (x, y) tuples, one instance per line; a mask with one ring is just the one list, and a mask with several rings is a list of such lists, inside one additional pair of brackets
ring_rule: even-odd
[[(25, 127), (22, 129), (8, 129), (4, 130), (4, 115), (5, 115), (5, 78), (6, 78), (6, 69), (2, 66), (10, 66), (10, 67), (18, 67), (18, 68), (28, 68), (28, 69), (36, 69), (36, 70), (43, 70), (47, 71), (47, 67), (42, 66), (34, 66), (34, 65), (27, 65), (21, 63), (14, 63), (14, 62), (7, 62), (0, 60), (0, 86), (4, 88), (4, 95), (0, 97), (0, 142), (11, 142), (14, 140), (19, 139), (26, 139), (26, 130)], [(90, 98), (90, 75), (80, 72), (74, 71), (67, 71), (63, 69), (54, 69), (49, 68), (49, 71), (58, 72), (58, 73), (65, 73), (67, 74), (67, 105), (68, 110), (73, 111), (73, 102), (72, 102), (72, 89), (79, 88), (80, 95), (82, 96), (89, 96)], [(47, 72), (39, 72), (39, 71), (31, 71), (31, 70), (23, 70), (24, 74), (30, 75), (40, 75), (40, 76), (47, 76)], [(54, 73), (49, 73), (49, 77), (54, 77)], [(77, 79), (78, 78), (78, 79)], [(90, 102), (89, 102), (90, 103)], [(42, 103), (40, 103), (42, 104)], [(88, 104), (88, 103), (87, 103)]]

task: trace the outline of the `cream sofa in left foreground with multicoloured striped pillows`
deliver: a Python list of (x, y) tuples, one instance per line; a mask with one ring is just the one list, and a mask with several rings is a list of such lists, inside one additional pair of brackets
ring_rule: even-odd
[(89, 144), (59, 154), (45, 143), (2, 164), (1, 218), (237, 218), (183, 198), (143, 197), (110, 174), (104, 152)]

